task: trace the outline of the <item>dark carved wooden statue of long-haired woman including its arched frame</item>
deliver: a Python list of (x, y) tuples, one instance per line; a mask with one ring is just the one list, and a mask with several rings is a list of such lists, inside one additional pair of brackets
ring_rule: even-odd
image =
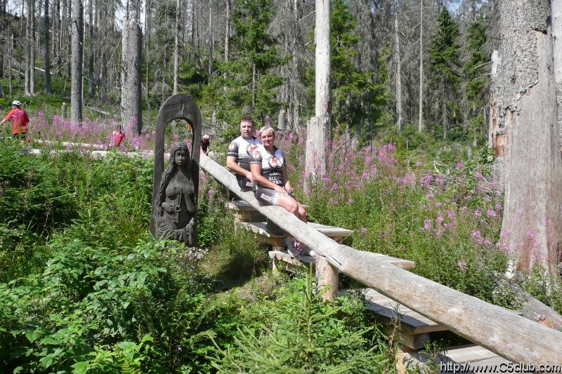
[[(190, 154), (186, 142), (171, 149), (164, 170), (164, 133), (174, 119), (185, 119), (192, 131)], [(150, 232), (159, 239), (175, 239), (197, 246), (197, 191), (199, 189), (199, 156), (201, 114), (195, 102), (186, 95), (171, 96), (158, 113), (155, 139), (154, 183)]]

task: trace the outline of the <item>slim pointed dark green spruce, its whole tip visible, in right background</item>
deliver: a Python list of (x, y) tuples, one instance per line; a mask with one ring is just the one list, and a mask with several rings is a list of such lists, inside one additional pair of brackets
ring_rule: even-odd
[(437, 21), (438, 27), (429, 48), (429, 85), (435, 93), (434, 119), (441, 122), (443, 138), (446, 138), (447, 130), (459, 122), (459, 105), (455, 101), (461, 81), (459, 26), (445, 7)]

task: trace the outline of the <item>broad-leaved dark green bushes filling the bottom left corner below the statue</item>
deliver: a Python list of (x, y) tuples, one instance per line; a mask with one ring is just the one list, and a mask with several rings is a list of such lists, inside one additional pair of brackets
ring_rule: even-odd
[(225, 339), (220, 326), (210, 329), (223, 321), (221, 309), (233, 313), (207, 295), (196, 253), (164, 251), (166, 241), (139, 243), (128, 255), (80, 241), (51, 246), (42, 274), (0, 283), (3, 368), (120, 373), (209, 365), (210, 338)]

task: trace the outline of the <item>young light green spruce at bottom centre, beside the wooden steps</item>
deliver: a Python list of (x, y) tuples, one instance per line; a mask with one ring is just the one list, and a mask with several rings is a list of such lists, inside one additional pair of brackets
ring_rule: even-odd
[(275, 300), (249, 309), (234, 344), (217, 347), (219, 373), (381, 373), (393, 366), (384, 336), (360, 300), (323, 302), (311, 277), (294, 279)]

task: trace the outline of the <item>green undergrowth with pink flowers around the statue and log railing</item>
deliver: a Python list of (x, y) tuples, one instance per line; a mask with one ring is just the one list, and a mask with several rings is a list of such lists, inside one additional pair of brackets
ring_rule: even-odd
[[(346, 239), (353, 248), (414, 260), (421, 276), (517, 307), (497, 276), (510, 252), (486, 149), (468, 157), (465, 147), (412, 129), (366, 145), (337, 135), (327, 175), (304, 190), (303, 133), (278, 133), (277, 145), (311, 220), (353, 229)], [(145, 136), (138, 149), (151, 141)], [(189, 251), (148, 234), (151, 159), (123, 149), (104, 159), (86, 149), (33, 156), (27, 147), (0, 145), (0, 366), (22, 373), (394, 370), (393, 342), (360, 293), (329, 305), (313, 292), (313, 276), (275, 278), (266, 248), (233, 231), (209, 176), (200, 182), (200, 249)], [(223, 162), (226, 145), (213, 149)], [(525, 286), (561, 311), (546, 283), (533, 276)]]

